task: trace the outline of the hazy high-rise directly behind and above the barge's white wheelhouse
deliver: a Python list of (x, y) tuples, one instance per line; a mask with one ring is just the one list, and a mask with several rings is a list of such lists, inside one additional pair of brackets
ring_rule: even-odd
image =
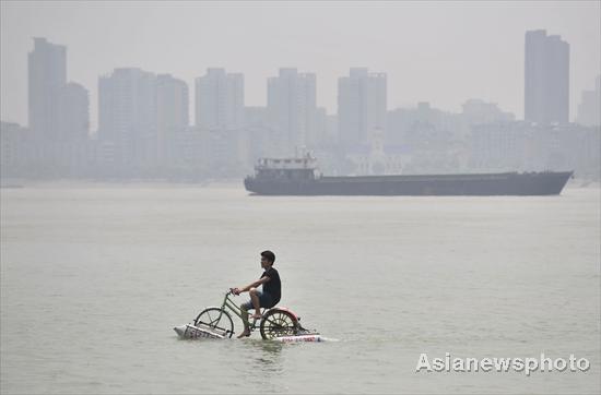
[(315, 143), (316, 76), (296, 69), (280, 69), (268, 80), (269, 122), (280, 136), (282, 155), (292, 155)]

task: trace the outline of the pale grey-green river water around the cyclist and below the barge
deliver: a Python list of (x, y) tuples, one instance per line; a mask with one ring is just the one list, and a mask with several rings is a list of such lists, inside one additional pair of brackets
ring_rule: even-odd
[[(270, 198), (38, 184), (0, 198), (2, 394), (601, 391), (599, 189)], [(339, 342), (178, 339), (175, 325), (260, 276), (264, 249), (280, 304)], [(575, 355), (590, 369), (415, 372), (422, 352)]]

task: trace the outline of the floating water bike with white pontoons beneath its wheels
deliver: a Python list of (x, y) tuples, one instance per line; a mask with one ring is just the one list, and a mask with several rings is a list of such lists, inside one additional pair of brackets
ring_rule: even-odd
[[(182, 338), (226, 339), (234, 335), (234, 321), (229, 312), (245, 320), (241, 309), (234, 303), (227, 290), (221, 307), (209, 307), (202, 310), (193, 323), (174, 327)], [(228, 312), (229, 311), (229, 312)], [(249, 322), (250, 331), (259, 330), (266, 340), (284, 343), (325, 342), (326, 338), (315, 331), (305, 330), (300, 318), (287, 308), (261, 309), (261, 318)]]

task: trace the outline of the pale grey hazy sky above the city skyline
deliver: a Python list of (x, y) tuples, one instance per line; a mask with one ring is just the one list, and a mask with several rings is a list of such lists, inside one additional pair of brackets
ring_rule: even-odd
[[(263, 106), (280, 67), (317, 73), (317, 103), (337, 111), (350, 67), (388, 73), (388, 107), (431, 101), (459, 111), (483, 98), (523, 116), (523, 36), (570, 44), (570, 118), (601, 69), (600, 1), (160, 2), (1, 1), (1, 119), (27, 123), (32, 37), (68, 47), (68, 79), (90, 89), (118, 67), (188, 82), (209, 67), (244, 72), (246, 104)], [(191, 112), (193, 113), (193, 112)], [(193, 116), (192, 116), (193, 118)]]

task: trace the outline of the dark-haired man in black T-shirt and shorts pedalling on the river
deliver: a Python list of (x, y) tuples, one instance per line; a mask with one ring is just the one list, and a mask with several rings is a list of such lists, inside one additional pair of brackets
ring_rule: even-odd
[[(273, 268), (273, 262), (275, 262), (275, 254), (273, 252), (269, 250), (261, 252), (261, 267), (264, 270), (261, 277), (246, 287), (232, 289), (235, 295), (240, 295), (246, 291), (250, 295), (250, 300), (240, 304), (244, 332), (238, 338), (250, 336), (248, 310), (255, 309), (255, 314), (250, 316), (251, 319), (260, 319), (261, 308), (270, 309), (280, 301), (282, 296), (282, 284), (280, 282), (280, 274)], [(262, 292), (257, 290), (257, 287), (260, 285), (263, 286)]]

